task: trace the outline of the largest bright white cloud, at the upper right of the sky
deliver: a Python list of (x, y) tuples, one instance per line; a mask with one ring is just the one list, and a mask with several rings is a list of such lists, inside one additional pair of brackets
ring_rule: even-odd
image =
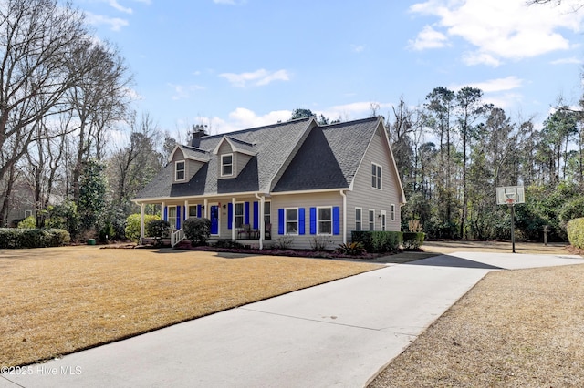
[[(438, 21), (433, 27), (425, 26), (412, 46), (432, 48), (435, 33), (459, 37), (475, 47), (464, 54), (468, 65), (489, 66), (498, 66), (500, 59), (519, 60), (565, 50), (570, 43), (558, 30), (579, 32), (584, 17), (584, 13), (568, 12), (573, 1), (552, 7), (528, 6), (521, 0), (429, 0), (412, 5), (410, 12), (437, 16)], [(424, 40), (423, 34), (430, 37)], [(423, 45), (426, 41), (428, 46)]]

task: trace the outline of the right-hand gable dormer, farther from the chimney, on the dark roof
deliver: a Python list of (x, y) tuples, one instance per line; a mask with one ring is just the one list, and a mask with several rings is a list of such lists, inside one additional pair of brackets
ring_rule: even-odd
[(257, 154), (254, 143), (224, 136), (214, 148), (214, 155), (217, 156), (219, 179), (236, 178), (245, 168), (251, 158)]

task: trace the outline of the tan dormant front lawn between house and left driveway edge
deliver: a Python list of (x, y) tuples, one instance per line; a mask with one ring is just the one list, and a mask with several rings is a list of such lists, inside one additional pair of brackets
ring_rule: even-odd
[(190, 250), (0, 250), (0, 366), (46, 360), (377, 268)]

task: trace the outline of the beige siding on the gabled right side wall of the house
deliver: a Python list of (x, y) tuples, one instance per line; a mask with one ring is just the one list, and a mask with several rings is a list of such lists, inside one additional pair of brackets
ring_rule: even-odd
[[(394, 171), (390, 150), (381, 136), (385, 130), (378, 128), (355, 175), (353, 190), (347, 192), (347, 240), (355, 230), (355, 208), (361, 208), (361, 230), (369, 230), (369, 209), (375, 210), (375, 230), (381, 230), (381, 210), (385, 210), (386, 230), (401, 229), (401, 189)], [(372, 187), (371, 165), (381, 166), (381, 190)], [(395, 205), (395, 220), (391, 221), (391, 204)]]

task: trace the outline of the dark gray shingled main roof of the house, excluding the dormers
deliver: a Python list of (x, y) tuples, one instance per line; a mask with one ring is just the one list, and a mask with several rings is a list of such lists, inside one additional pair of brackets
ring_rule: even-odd
[[(380, 125), (381, 117), (327, 126), (318, 126), (313, 117), (307, 117), (204, 136), (198, 148), (181, 147), (187, 158), (207, 160), (192, 179), (172, 183), (171, 163), (141, 190), (138, 200), (254, 191), (348, 189)], [(232, 179), (219, 179), (220, 160), (214, 155), (225, 139), (253, 155)]]

